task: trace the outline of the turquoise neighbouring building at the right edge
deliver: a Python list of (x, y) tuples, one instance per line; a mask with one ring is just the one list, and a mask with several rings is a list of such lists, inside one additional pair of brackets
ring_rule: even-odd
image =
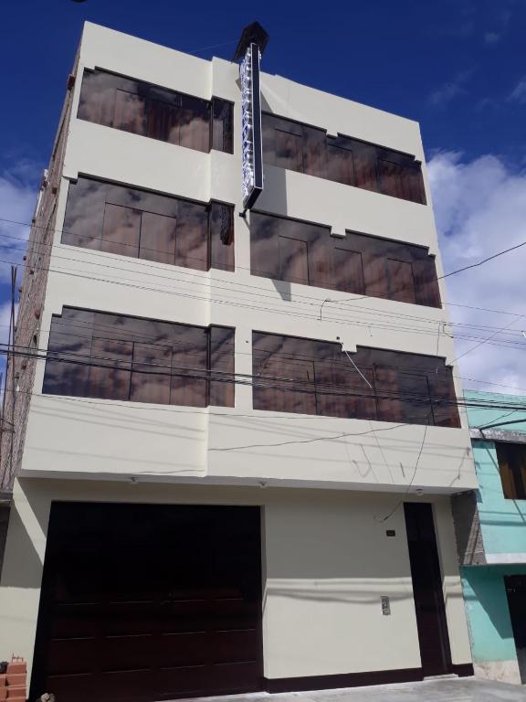
[(476, 675), (526, 683), (526, 397), (466, 392), (477, 493), (454, 498)]

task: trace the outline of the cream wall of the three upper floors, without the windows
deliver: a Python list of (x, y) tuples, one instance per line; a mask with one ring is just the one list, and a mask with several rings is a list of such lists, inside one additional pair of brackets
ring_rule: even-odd
[[(453, 342), (441, 328), (447, 322), (445, 310), (250, 276), (249, 220), (235, 217), (236, 272), (191, 271), (61, 244), (68, 178), (79, 174), (205, 202), (215, 198), (235, 204), (236, 212), (241, 209), (237, 65), (187, 56), (88, 23), (79, 53), (73, 115), (82, 71), (94, 67), (201, 98), (216, 95), (235, 101), (235, 153), (203, 154), (74, 116), (68, 126), (41, 347), (47, 346), (52, 314), (71, 305), (173, 322), (235, 326), (238, 373), (252, 373), (254, 329), (328, 341), (339, 336), (349, 350), (375, 346), (438, 354), (448, 363), (453, 361)], [(284, 117), (424, 158), (416, 122), (278, 76), (263, 75), (262, 92), (265, 108)], [(426, 195), (429, 201), (427, 183)], [(258, 207), (320, 222), (335, 231), (358, 230), (423, 244), (437, 254), (437, 271), (442, 271), (430, 206), (267, 167)], [(327, 298), (336, 302), (326, 302)], [(349, 372), (355, 372), (351, 366)], [(251, 388), (243, 386), (236, 388), (233, 410), (44, 397), (40, 394), (43, 374), (40, 363), (23, 475), (126, 478), (136, 474), (141, 480), (200, 478), (230, 484), (264, 480), (399, 491), (411, 484), (412, 490), (430, 492), (477, 485), (463, 414), (462, 429), (428, 428), (415, 473), (423, 427), (254, 411)], [(305, 443), (307, 438), (316, 441)], [(283, 442), (285, 446), (276, 445)]]

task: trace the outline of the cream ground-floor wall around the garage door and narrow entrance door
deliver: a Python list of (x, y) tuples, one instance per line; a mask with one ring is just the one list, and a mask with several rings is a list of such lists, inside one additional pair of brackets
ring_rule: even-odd
[[(32, 664), (52, 501), (261, 505), (263, 647), (267, 677), (420, 665), (399, 495), (22, 479), (16, 482), (0, 582), (0, 659)], [(447, 497), (436, 496), (437, 541), (454, 664), (470, 661)], [(385, 530), (395, 529), (395, 537)], [(391, 615), (381, 597), (391, 598)]]

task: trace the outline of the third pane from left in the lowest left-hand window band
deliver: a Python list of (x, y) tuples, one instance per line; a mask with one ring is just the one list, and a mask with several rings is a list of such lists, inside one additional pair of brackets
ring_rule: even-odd
[(151, 344), (133, 345), (132, 402), (170, 404), (172, 348)]

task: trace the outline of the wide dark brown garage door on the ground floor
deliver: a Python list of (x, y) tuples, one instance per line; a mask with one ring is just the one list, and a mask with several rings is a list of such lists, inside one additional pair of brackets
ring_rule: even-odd
[(52, 506), (31, 695), (261, 689), (259, 508)]

